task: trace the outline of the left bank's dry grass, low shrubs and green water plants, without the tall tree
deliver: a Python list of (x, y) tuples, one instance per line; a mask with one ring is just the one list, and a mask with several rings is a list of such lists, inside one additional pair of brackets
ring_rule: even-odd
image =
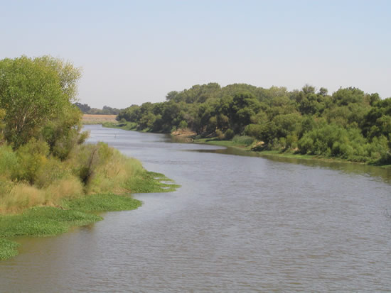
[[(3, 146), (1, 154), (0, 260), (17, 255), (14, 237), (64, 233), (72, 226), (102, 220), (93, 213), (136, 209), (141, 201), (129, 197), (131, 193), (171, 192), (178, 187), (105, 143), (80, 145), (63, 162), (44, 156), (32, 161), (28, 155), (26, 162), (35, 164), (33, 182), (12, 180), (25, 170), (19, 153)], [(8, 161), (15, 162), (13, 170), (6, 167)]]

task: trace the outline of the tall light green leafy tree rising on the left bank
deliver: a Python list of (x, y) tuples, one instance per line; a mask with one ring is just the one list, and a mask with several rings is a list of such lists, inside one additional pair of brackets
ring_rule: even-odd
[(40, 138), (48, 123), (72, 111), (80, 70), (44, 56), (0, 61), (0, 109), (4, 136), (14, 148)]

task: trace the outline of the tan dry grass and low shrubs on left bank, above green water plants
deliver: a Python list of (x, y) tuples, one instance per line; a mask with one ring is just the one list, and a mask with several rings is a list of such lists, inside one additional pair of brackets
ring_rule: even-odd
[[(4, 148), (2, 154), (0, 162), (6, 157)], [(30, 160), (31, 156), (24, 159)], [(21, 162), (15, 167), (18, 172), (29, 167)], [(168, 179), (146, 172), (141, 162), (105, 143), (78, 145), (63, 162), (49, 157), (45, 162), (33, 163), (36, 164), (31, 175), (33, 182), (13, 179), (9, 167), (0, 166), (0, 215), (19, 213), (33, 206), (60, 206), (64, 199), (89, 194), (168, 192), (177, 187), (161, 182)]]

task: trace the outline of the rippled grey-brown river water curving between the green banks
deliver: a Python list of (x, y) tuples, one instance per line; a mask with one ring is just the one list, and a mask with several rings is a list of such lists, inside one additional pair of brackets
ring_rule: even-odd
[(20, 255), (0, 262), (0, 292), (391, 291), (390, 170), (85, 128), (182, 187), (19, 239)]

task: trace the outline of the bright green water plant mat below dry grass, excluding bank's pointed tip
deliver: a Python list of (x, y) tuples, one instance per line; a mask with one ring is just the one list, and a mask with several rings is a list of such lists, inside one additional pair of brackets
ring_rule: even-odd
[(95, 194), (62, 201), (61, 207), (33, 207), (22, 214), (0, 216), (0, 260), (18, 255), (18, 243), (6, 239), (15, 236), (54, 236), (73, 226), (85, 226), (103, 218), (99, 211), (137, 209), (141, 201), (129, 196)]

